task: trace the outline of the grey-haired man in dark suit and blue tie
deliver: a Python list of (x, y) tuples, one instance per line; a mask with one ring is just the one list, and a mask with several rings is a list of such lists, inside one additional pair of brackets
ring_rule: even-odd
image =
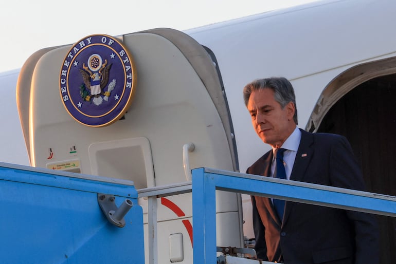
[[(248, 174), (282, 174), (289, 180), (365, 189), (345, 137), (312, 134), (297, 127), (289, 81), (256, 80), (244, 87), (243, 96), (256, 133), (273, 148), (247, 169)], [(377, 225), (370, 214), (259, 196), (251, 200), (258, 258), (286, 264), (379, 261)]]

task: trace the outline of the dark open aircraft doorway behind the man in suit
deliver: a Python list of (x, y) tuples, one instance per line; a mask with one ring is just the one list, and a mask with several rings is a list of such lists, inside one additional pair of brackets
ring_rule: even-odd
[[(363, 82), (341, 97), (317, 132), (344, 135), (362, 168), (367, 191), (396, 196), (396, 74)], [(396, 263), (396, 218), (377, 216), (380, 263)]]

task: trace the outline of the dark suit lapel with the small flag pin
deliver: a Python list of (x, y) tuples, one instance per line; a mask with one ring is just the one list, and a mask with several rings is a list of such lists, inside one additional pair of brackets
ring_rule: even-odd
[[(313, 156), (313, 136), (311, 133), (300, 129), (301, 141), (297, 149), (296, 159), (294, 160), (292, 174), (290, 180), (303, 181), (305, 172), (307, 171), (308, 165), (311, 162)], [(283, 223), (285, 224), (289, 214), (292, 210), (293, 203), (286, 201), (285, 210), (283, 216)]]

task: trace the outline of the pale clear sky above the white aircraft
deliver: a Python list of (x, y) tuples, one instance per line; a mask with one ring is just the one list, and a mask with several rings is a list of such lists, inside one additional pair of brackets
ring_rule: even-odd
[(19, 69), (42, 48), (91, 34), (121, 35), (168, 27), (187, 30), (316, 0), (3, 1), (0, 72)]

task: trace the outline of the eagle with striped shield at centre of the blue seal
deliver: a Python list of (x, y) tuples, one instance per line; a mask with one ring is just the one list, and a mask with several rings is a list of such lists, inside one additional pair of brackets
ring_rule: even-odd
[(103, 100), (109, 100), (112, 90), (116, 85), (116, 80), (112, 82), (104, 89), (109, 82), (109, 72), (112, 64), (107, 64), (107, 60), (104, 60), (99, 54), (92, 54), (89, 56), (87, 65), (83, 63), (80, 73), (84, 83), (80, 86), (80, 95), (84, 101), (91, 101), (95, 105), (102, 104)]

